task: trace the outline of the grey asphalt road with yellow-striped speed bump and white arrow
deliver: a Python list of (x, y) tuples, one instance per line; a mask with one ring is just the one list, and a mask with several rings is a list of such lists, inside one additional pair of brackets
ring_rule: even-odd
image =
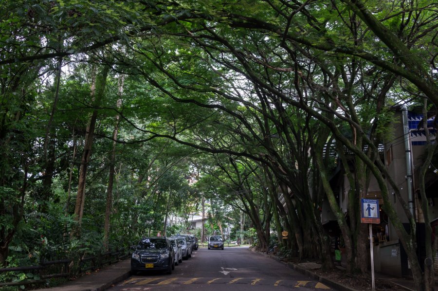
[(137, 273), (111, 291), (333, 290), (247, 248), (199, 249), (171, 275)]

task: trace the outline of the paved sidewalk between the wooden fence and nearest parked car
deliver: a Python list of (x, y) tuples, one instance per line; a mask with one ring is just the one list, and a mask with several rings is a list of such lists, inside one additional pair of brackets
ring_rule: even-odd
[(54, 288), (38, 289), (39, 291), (102, 291), (129, 277), (131, 259), (111, 264), (97, 272), (83, 275)]

